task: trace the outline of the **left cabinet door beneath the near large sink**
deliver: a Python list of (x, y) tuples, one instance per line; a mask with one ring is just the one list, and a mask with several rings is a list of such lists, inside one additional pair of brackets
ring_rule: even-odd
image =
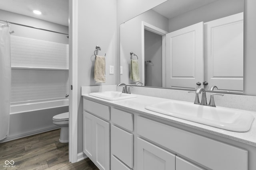
[(138, 138), (138, 170), (175, 170), (175, 155)]

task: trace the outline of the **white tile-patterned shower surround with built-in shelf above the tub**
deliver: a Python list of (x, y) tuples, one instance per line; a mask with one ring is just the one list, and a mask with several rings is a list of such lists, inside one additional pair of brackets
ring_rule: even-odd
[(68, 94), (68, 70), (48, 70), (68, 68), (68, 45), (11, 36), (11, 65), (11, 102)]

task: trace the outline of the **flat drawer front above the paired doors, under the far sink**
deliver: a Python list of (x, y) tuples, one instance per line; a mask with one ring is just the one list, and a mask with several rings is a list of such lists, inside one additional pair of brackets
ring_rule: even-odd
[(103, 119), (110, 120), (109, 106), (84, 99), (83, 107), (84, 107), (84, 110), (90, 113), (93, 113), (99, 117), (102, 117)]

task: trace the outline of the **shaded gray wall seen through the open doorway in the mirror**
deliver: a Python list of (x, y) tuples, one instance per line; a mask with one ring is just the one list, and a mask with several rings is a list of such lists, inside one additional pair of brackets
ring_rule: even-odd
[(162, 87), (162, 36), (145, 30), (144, 32), (145, 86)]

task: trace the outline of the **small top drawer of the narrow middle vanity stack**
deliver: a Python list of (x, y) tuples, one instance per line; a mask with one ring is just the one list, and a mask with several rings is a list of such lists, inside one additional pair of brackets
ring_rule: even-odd
[(133, 131), (133, 114), (111, 108), (111, 121), (124, 129)]

